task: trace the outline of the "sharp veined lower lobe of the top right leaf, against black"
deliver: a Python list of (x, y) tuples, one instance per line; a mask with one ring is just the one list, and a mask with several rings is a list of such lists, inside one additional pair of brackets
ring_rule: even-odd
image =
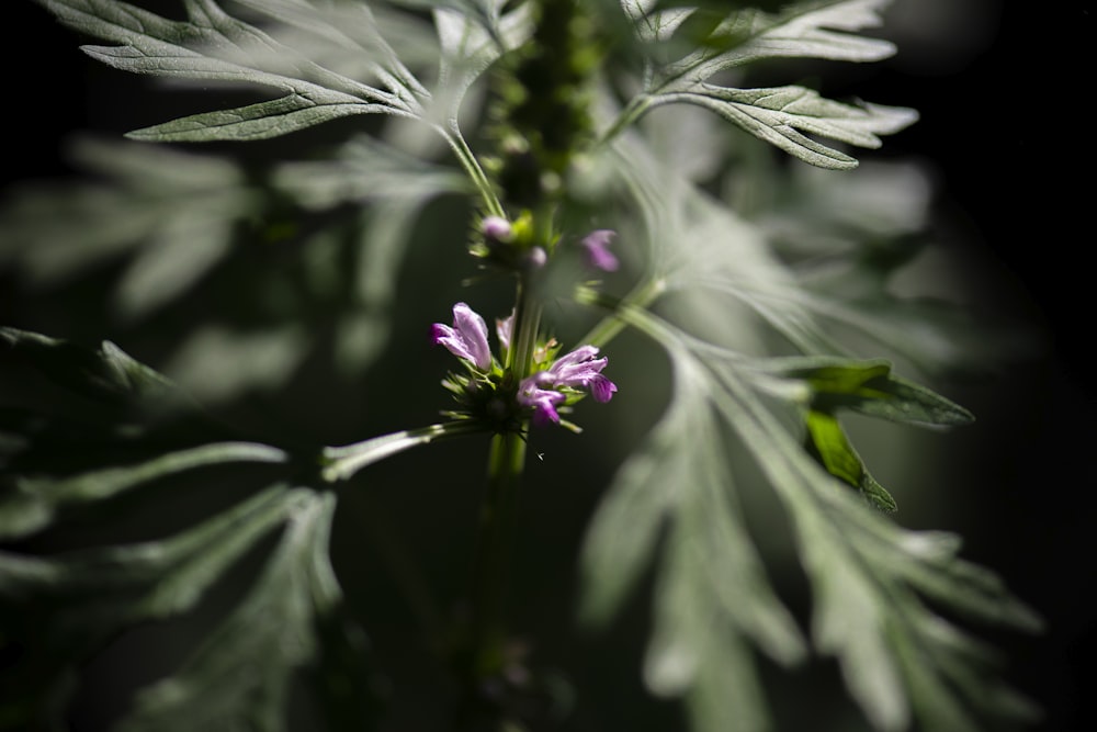
[(663, 93), (653, 105), (685, 102), (711, 110), (728, 122), (804, 162), (849, 170), (857, 160), (801, 133), (860, 147), (880, 147), (878, 134), (892, 134), (914, 123), (917, 112), (879, 104), (844, 104), (803, 87), (732, 89), (701, 85), (689, 92)]

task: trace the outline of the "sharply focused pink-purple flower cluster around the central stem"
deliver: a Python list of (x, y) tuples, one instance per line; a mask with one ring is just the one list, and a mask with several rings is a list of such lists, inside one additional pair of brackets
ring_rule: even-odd
[[(504, 349), (510, 346), (512, 326), (513, 315), (496, 322), (496, 335)], [(532, 417), (535, 425), (558, 425), (565, 405), (586, 394), (596, 402), (609, 402), (618, 391), (617, 384), (602, 374), (608, 359), (598, 358), (597, 347), (580, 346), (555, 358), (555, 340), (538, 349), (534, 373), (516, 379), (493, 358), (487, 325), (465, 303), (453, 306), (452, 326), (436, 323), (431, 327), (431, 339), (456, 356), (470, 372), (451, 374), (446, 382), (465, 407), (462, 416), (485, 419), (498, 430), (516, 429), (524, 417)]]

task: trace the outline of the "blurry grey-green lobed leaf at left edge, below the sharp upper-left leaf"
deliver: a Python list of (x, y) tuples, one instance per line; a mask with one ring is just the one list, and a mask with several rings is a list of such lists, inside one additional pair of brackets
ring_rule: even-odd
[[(4, 209), (11, 261), (34, 286), (57, 285), (132, 255), (116, 302), (147, 315), (219, 264), (264, 194), (224, 159), (167, 147), (79, 138), (69, 150), (88, 180), (18, 187)], [(94, 177), (92, 180), (91, 177)]]

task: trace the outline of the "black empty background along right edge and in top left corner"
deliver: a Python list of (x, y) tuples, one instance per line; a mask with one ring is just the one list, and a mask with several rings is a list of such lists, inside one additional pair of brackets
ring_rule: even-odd
[[(135, 122), (112, 86), (122, 74), (89, 61), (45, 12), (7, 4), (5, 182), (67, 172), (59, 142), (72, 131), (121, 134), (158, 121)], [(964, 444), (984, 458), (937, 528), (961, 530), (966, 555), (1048, 619), (1039, 639), (1002, 638), (1010, 677), (1048, 711), (1042, 729), (1097, 729), (1093, 3), (964, 4), (963, 33), (897, 38), (895, 59), (849, 83), (870, 101), (919, 110), (880, 156), (931, 161), (942, 235), (982, 262), (988, 302), (1041, 335), (1039, 352), (1004, 364), (993, 388), (964, 386), (974, 404), (959, 401), (981, 419)], [(0, 292), (0, 322), (9, 308), (26, 312), (13, 297)]]

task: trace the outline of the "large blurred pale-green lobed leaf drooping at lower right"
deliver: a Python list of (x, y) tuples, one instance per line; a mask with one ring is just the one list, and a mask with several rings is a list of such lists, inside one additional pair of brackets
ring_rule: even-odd
[[(733, 465), (725, 462), (731, 452), (723, 438), (722, 427), (726, 427), (757, 461), (791, 518), (794, 543), (813, 588), (815, 647), (838, 660), (850, 695), (874, 729), (905, 730), (913, 718), (919, 721), (935, 716), (943, 718), (941, 710), (947, 709), (955, 710), (949, 719), (964, 724), (974, 719), (974, 709), (991, 717), (1027, 713), (1029, 707), (1024, 700), (984, 673), (985, 655), (973, 653), (975, 644), (941, 612), (942, 609), (962, 615), (976, 612), (983, 620), (1024, 630), (1039, 628), (1036, 616), (1010, 596), (993, 573), (958, 560), (954, 540), (901, 529), (882, 514), (869, 510), (851, 492), (841, 489), (838, 478), (798, 442), (795, 423), (787, 419), (785, 413), (801, 408), (811, 392), (774, 388), (772, 371), (780, 369), (773, 363), (780, 363), (781, 359), (770, 363), (768, 359), (744, 357), (687, 335), (640, 308), (621, 308), (617, 316), (666, 349), (678, 375), (676, 384), (682, 384), (676, 388), (667, 415), (681, 410), (693, 415), (693, 421), (658, 431), (664, 436), (655, 443), (659, 452), (653, 452), (653, 443), (646, 443), (619, 473), (596, 514), (585, 545), (583, 589), (587, 601), (600, 607), (606, 596), (600, 583), (614, 582), (613, 565), (606, 561), (611, 556), (607, 548), (626, 540), (625, 545), (651, 551), (651, 536), (621, 539), (610, 533), (629, 531), (624, 522), (627, 508), (640, 504), (643, 497), (643, 505), (658, 506), (669, 518), (683, 505), (688, 506), (687, 497), (699, 494), (703, 486), (727, 488), (731, 483), (727, 473)], [(811, 363), (806, 374), (816, 378), (815, 384), (823, 394), (872, 394), (874, 380), (886, 384), (890, 371), (882, 362), (857, 364), (826, 359), (806, 362)], [(806, 364), (801, 362), (801, 365)], [(915, 398), (920, 396), (919, 392)], [(874, 482), (866, 482), (863, 464), (833, 416), (814, 414), (810, 418), (816, 420), (815, 433), (826, 438), (821, 440), (825, 442), (821, 451), (830, 458), (827, 468), (847, 482), (856, 481), (858, 487), (874, 491)], [(661, 482), (645, 484), (638, 472), (633, 474), (629, 470), (630, 465), (645, 462), (659, 465), (664, 452), (689, 465), (688, 472), (670, 484), (674, 492)], [(657, 498), (644, 497), (642, 488), (657, 492)], [(874, 497), (878, 503), (887, 500), (886, 494)], [(677, 510), (670, 513), (664, 506)], [(697, 729), (722, 730), (734, 710), (714, 701), (713, 689), (721, 684), (719, 674), (726, 673), (749, 688), (743, 677), (744, 668), (735, 666), (734, 660), (740, 654), (736, 644), (749, 639), (757, 645), (764, 637), (746, 630), (749, 626), (742, 621), (731, 628), (712, 624), (719, 616), (715, 608), (705, 605), (704, 598), (713, 588), (735, 586), (732, 578), (723, 576), (726, 566), (723, 558), (735, 553), (723, 548), (720, 554), (701, 554), (706, 559), (699, 559), (695, 564), (688, 562), (688, 554), (682, 553), (706, 536), (723, 534), (717, 527), (733, 514), (709, 494), (689, 515), (692, 520), (688, 528), (683, 525), (680, 534), (671, 534), (674, 540), (663, 544), (663, 570), (655, 598), (656, 624), (646, 678), (655, 690), (688, 699), (695, 724), (711, 724)], [(651, 534), (651, 525), (652, 520), (641, 514), (641, 520), (633, 525), (634, 532)], [(743, 537), (746, 532), (736, 528), (734, 533)], [(632, 553), (633, 561), (637, 554)], [(712, 559), (716, 555), (722, 558), (720, 562)], [(627, 559), (619, 561), (626, 576), (632, 576), (635, 570), (630, 567)], [(689, 586), (683, 584), (690, 582), (689, 575), (698, 571), (694, 567), (717, 565), (720, 579), (710, 578), (688, 592), (683, 588)], [(971, 576), (966, 578), (969, 573)], [(932, 598), (935, 607), (927, 607), (921, 595)], [(749, 612), (755, 605), (745, 598), (756, 597), (757, 589), (743, 588), (735, 596), (740, 608)], [(776, 607), (781, 607), (779, 600)], [(612, 608), (610, 604), (608, 609)], [(700, 639), (693, 638), (695, 629), (700, 629), (697, 631)], [(731, 660), (704, 663), (704, 650), (711, 647), (724, 650)], [(989, 689), (994, 689), (993, 700), (987, 696)], [(702, 703), (702, 699), (706, 701)], [(761, 727), (764, 710), (745, 703), (746, 708), (739, 712), (751, 720), (751, 729)]]

